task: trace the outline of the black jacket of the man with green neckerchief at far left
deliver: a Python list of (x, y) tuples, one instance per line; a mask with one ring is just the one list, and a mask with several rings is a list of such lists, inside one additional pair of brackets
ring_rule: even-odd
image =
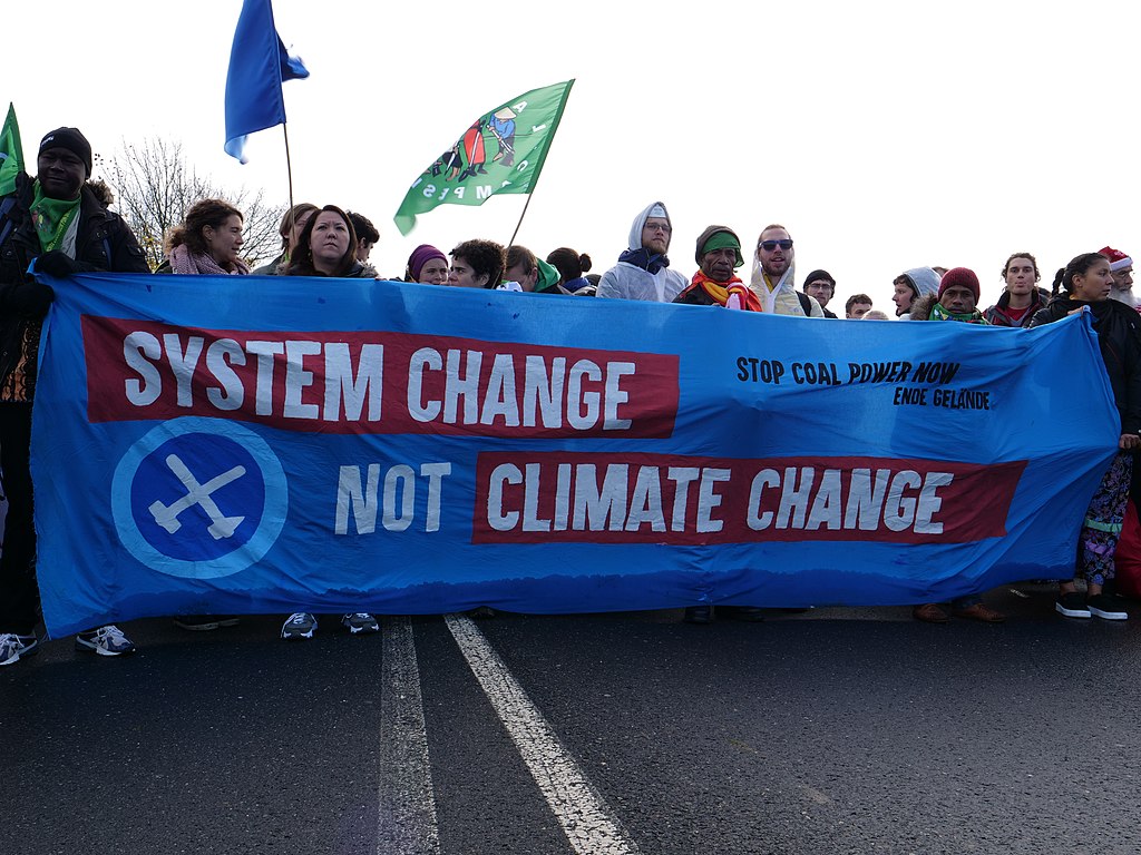
[[(26, 173), (16, 178), (16, 189), (0, 198), (0, 386), (19, 363), (25, 329), (38, 326), (43, 312), (22, 310), (27, 288), (39, 287), (27, 275), (27, 266), (42, 254), (32, 225), (34, 181)], [(75, 234), (75, 268), (82, 271), (146, 274), (143, 250), (119, 214), (108, 211), (84, 185), (80, 190), (80, 220)], [(35, 383), (37, 341), (29, 342), (26, 356), (29, 397)]]

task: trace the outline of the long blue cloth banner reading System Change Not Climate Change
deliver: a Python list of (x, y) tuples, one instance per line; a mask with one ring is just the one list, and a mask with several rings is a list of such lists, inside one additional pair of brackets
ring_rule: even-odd
[(1084, 317), (44, 280), (32, 472), (52, 635), (176, 613), (946, 601), (1069, 577), (1118, 437)]

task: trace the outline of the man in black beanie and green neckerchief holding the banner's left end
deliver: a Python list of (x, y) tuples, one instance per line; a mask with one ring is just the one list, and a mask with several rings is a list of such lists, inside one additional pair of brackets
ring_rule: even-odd
[[(87, 186), (91, 144), (75, 128), (41, 141), (37, 177), (19, 173), (0, 198), (0, 470), (8, 516), (0, 552), (0, 666), (34, 653), (39, 592), (29, 453), (40, 328), (55, 299), (50, 286), (27, 275), (80, 271), (149, 272), (130, 228)], [(78, 650), (129, 653), (135, 645), (113, 626), (75, 637)]]

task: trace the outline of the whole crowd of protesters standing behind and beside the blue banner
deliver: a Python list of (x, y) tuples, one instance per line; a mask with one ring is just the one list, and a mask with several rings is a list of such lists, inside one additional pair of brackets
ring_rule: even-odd
[[(35, 178), (19, 173), (15, 190), (0, 197), (0, 473), (8, 499), (0, 551), (0, 666), (34, 653), (39, 644), (29, 457), (40, 331), (54, 292), (29, 270), (57, 277), (91, 270), (151, 272), (135, 235), (110, 210), (105, 188), (89, 180), (91, 166), (91, 146), (83, 135), (74, 128), (59, 128), (40, 141)], [(382, 278), (369, 264), (380, 235), (359, 213), (335, 205), (293, 205), (281, 222), (280, 254), (252, 270), (250, 260), (242, 255), (243, 225), (242, 212), (229, 203), (199, 201), (167, 236), (167, 259), (154, 272)], [(828, 309), (836, 286), (828, 271), (814, 270), (803, 279), (802, 290), (796, 290), (795, 245), (784, 226), (761, 229), (751, 251), (747, 282), (738, 276), (746, 256), (734, 229), (712, 225), (702, 231), (694, 253), (697, 271), (691, 277), (671, 264), (667, 253), (672, 238), (666, 206), (654, 202), (634, 217), (626, 249), (600, 276), (590, 272), (593, 263), (589, 255), (570, 247), (551, 250), (544, 259), (524, 246), (470, 239), (446, 253), (429, 244), (415, 247), (398, 278), (436, 286), (840, 319)], [(1120, 437), (1118, 454), (1082, 526), (1074, 579), (1060, 583), (1055, 609), (1069, 618), (1124, 620), (1128, 613), (1112, 585), (1115, 553), (1131, 495), (1139, 492), (1133, 457), (1141, 445), (1141, 315), (1132, 294), (1132, 259), (1109, 246), (1079, 254), (1057, 272), (1046, 291), (1039, 284), (1042, 274), (1035, 256), (1017, 252), (1006, 260), (1002, 276), (1004, 290), (997, 303), (981, 309), (979, 279), (972, 270), (907, 269), (891, 283), (893, 314), (903, 320), (1033, 327), (1074, 312), (1091, 312), (1120, 417)], [(889, 319), (865, 293), (850, 296), (843, 308), (844, 319)], [(946, 622), (952, 616), (1002, 621), (1004, 616), (986, 605), (981, 593), (949, 604), (920, 603), (913, 613), (928, 622)], [(744, 620), (761, 614), (752, 606), (727, 611)], [(484, 608), (478, 613), (493, 612)], [(712, 617), (712, 606), (686, 610), (689, 622), (707, 624)], [(215, 629), (233, 625), (237, 618), (178, 616), (176, 622), (186, 629)], [(353, 634), (375, 633), (380, 627), (375, 616), (365, 612), (345, 614), (341, 624)], [(310, 638), (316, 628), (315, 616), (294, 612), (285, 620), (282, 637)], [(75, 645), (76, 650), (110, 657), (135, 649), (116, 626), (80, 633)]]

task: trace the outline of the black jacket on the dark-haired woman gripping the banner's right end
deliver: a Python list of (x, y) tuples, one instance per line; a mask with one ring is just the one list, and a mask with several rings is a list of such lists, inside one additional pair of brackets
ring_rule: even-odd
[(1030, 326), (1053, 324), (1083, 306), (1089, 306), (1093, 314), (1093, 328), (1122, 418), (1122, 433), (1141, 432), (1141, 315), (1136, 309), (1116, 300), (1086, 303), (1059, 295), (1034, 316)]

